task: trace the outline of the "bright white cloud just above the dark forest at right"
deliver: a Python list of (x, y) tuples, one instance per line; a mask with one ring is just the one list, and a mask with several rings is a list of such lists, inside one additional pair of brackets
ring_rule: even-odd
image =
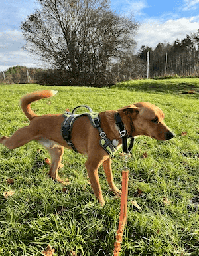
[(137, 47), (142, 45), (153, 47), (158, 43), (174, 43), (176, 39), (184, 39), (186, 35), (198, 31), (198, 16), (182, 19), (170, 19), (161, 23), (159, 20), (148, 19), (139, 28), (137, 34)]

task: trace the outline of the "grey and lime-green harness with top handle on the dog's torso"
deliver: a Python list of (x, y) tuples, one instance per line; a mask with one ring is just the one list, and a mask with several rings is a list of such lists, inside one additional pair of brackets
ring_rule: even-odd
[[(74, 114), (76, 109), (80, 108), (80, 107), (88, 108), (89, 112), (86, 112), (84, 114)], [(105, 132), (101, 129), (99, 113), (93, 112), (89, 106), (84, 106), (84, 105), (77, 106), (76, 108), (74, 108), (74, 110), (72, 110), (72, 113), (65, 112), (63, 116), (65, 119), (64, 119), (63, 126), (62, 126), (62, 136), (63, 136), (64, 140), (66, 140), (66, 142), (68, 143), (68, 146), (70, 146), (75, 152), (78, 152), (78, 150), (76, 149), (76, 147), (74, 146), (74, 144), (71, 141), (71, 132), (72, 132), (72, 126), (73, 126), (76, 118), (79, 118), (80, 116), (88, 116), (92, 126), (94, 126), (94, 128), (96, 128), (96, 129), (98, 129), (98, 132), (100, 133), (100, 137), (101, 137), (100, 145), (109, 155), (114, 154), (117, 151), (117, 148), (115, 146), (113, 146), (113, 143), (111, 142), (111, 140), (109, 140), (109, 138), (107, 138)]]

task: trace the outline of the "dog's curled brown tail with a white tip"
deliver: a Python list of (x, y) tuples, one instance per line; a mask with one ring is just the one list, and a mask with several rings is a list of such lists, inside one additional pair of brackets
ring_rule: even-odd
[(21, 98), (21, 108), (29, 120), (33, 119), (37, 114), (31, 110), (31, 103), (42, 98), (49, 98), (54, 96), (57, 91), (54, 90), (41, 90), (40, 92), (31, 92)]

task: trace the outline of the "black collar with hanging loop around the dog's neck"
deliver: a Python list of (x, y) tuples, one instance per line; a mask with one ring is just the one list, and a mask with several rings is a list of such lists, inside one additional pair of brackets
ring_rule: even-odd
[[(120, 138), (122, 138), (123, 152), (129, 154), (129, 152), (133, 148), (134, 137), (129, 137), (129, 134), (127, 133), (127, 130), (125, 129), (125, 125), (123, 124), (123, 122), (121, 120), (121, 116), (119, 115), (119, 113), (115, 114), (115, 122), (116, 122), (116, 124), (119, 128)], [(129, 147), (127, 146), (128, 138), (131, 138), (131, 142), (129, 144)]]

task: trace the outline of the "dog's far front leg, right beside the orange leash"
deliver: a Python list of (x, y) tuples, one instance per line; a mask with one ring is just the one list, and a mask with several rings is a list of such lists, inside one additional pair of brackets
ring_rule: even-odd
[(105, 176), (107, 178), (107, 182), (111, 188), (111, 191), (115, 193), (115, 195), (121, 196), (121, 190), (119, 190), (115, 182), (113, 181), (113, 174), (112, 174), (112, 168), (111, 168), (111, 158), (108, 158), (103, 162), (103, 169), (105, 170)]

